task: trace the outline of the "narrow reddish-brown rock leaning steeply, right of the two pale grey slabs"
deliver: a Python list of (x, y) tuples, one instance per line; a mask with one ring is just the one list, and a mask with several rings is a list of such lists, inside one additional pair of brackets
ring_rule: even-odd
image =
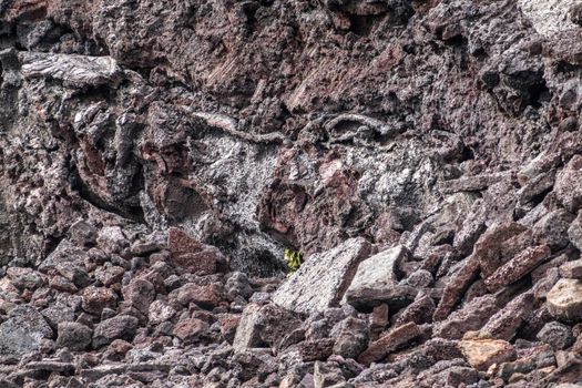
[(463, 261), (461, 268), (452, 275), (452, 278), (447, 283), (442, 298), (432, 316), (433, 320), (442, 320), (449, 316), (467, 288), (469, 288), (471, 283), (477, 278), (479, 266), (479, 258), (474, 255)]

